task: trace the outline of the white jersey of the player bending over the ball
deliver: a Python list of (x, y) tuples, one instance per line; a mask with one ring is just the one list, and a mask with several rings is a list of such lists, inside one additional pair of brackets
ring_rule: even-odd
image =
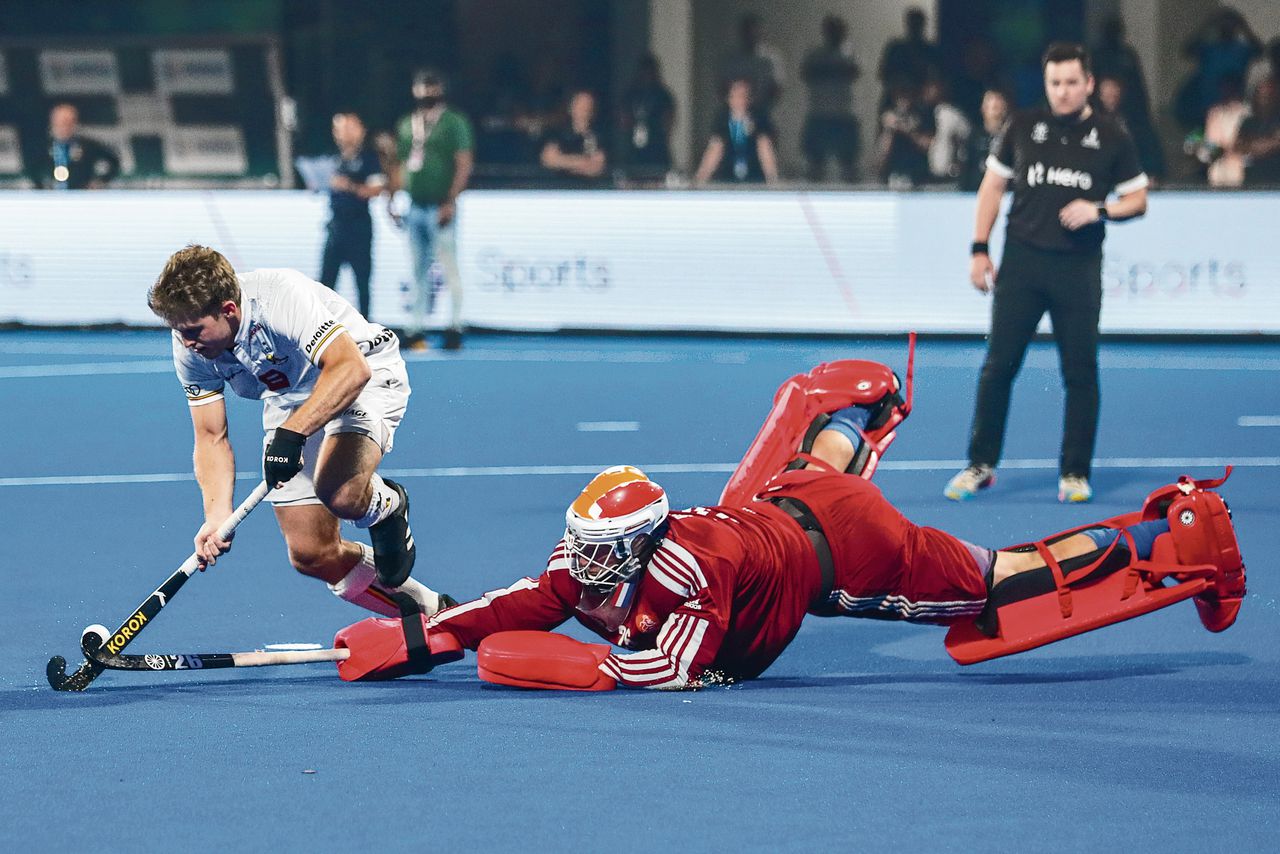
[(403, 371), (396, 333), (297, 270), (253, 270), (239, 286), (241, 326), (230, 350), (205, 359), (173, 333), (173, 362), (191, 406), (221, 399), (227, 383), (239, 397), (301, 406), (320, 376), (320, 356), (342, 334), (355, 339), (375, 373)]

